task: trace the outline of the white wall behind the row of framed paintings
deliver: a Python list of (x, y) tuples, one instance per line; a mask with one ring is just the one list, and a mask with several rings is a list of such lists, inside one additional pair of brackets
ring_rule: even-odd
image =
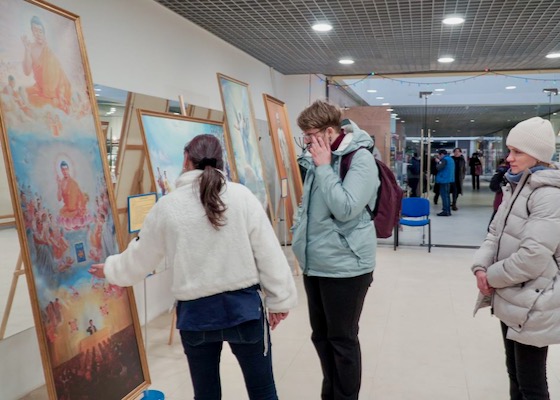
[[(266, 120), (262, 93), (284, 101), (299, 134), (297, 114), (325, 95), (315, 76), (284, 76), (153, 0), (51, 0), (80, 16), (95, 83), (222, 109), (216, 73), (249, 84), (256, 118)], [(148, 279), (147, 318), (166, 311), (171, 274)], [(141, 320), (143, 285), (135, 288)], [(44, 383), (34, 329), (0, 341), (0, 398), (18, 399)]]

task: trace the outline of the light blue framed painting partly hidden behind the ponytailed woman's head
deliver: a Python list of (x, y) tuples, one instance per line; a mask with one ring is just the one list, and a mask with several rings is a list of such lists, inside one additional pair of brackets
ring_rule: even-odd
[(175, 189), (183, 170), (183, 150), (195, 136), (210, 134), (220, 139), (224, 152), (225, 172), (236, 180), (228, 156), (228, 144), (222, 123), (146, 110), (137, 110), (150, 174), (152, 190), (161, 197)]

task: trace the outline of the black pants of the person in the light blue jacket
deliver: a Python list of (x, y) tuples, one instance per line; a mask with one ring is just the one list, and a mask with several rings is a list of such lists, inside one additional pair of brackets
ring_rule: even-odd
[(303, 277), (311, 341), (323, 370), (322, 400), (357, 400), (362, 382), (358, 322), (373, 273), (353, 278)]

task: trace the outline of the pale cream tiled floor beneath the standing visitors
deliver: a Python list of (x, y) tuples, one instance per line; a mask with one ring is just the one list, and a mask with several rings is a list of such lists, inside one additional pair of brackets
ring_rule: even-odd
[[(487, 189), (486, 189), (487, 190)], [(435, 244), (476, 245), (491, 214), (491, 195), (466, 190), (461, 209), (450, 218), (433, 217)], [(439, 207), (433, 213), (439, 212)], [(402, 241), (418, 244), (421, 232), (403, 232)], [(476, 285), (469, 265), (475, 250), (401, 245), (378, 248), (375, 281), (366, 297), (360, 324), (363, 381), (360, 399), (500, 400), (507, 399), (507, 377), (496, 318), (488, 311), (472, 316)], [(319, 399), (321, 372), (310, 342), (301, 276), (300, 304), (272, 333), (274, 373), (281, 399)], [(166, 399), (192, 399), (187, 362), (178, 335), (167, 345), (171, 315), (148, 324), (151, 388)], [(225, 346), (222, 358), (225, 400), (247, 399), (241, 371)], [(551, 398), (560, 398), (560, 349), (549, 353)], [(26, 400), (45, 399), (44, 388)]]

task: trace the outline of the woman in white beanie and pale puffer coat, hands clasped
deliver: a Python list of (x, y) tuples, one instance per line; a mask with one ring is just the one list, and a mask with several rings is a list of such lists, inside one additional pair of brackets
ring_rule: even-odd
[(484, 306), (500, 320), (511, 400), (548, 400), (548, 346), (560, 343), (560, 170), (556, 135), (533, 117), (506, 139), (508, 181), (472, 271)]

